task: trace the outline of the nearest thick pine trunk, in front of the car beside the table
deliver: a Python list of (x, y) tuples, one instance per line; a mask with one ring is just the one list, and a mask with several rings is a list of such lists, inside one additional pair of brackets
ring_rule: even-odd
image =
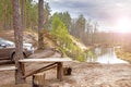
[(20, 15), (20, 2), (19, 0), (12, 0), (13, 4), (13, 28), (14, 28), (14, 40), (15, 40), (15, 66), (17, 67), (15, 72), (15, 84), (23, 84), (23, 71), (22, 66), (19, 63), (20, 59), (23, 59), (23, 30), (22, 22)]

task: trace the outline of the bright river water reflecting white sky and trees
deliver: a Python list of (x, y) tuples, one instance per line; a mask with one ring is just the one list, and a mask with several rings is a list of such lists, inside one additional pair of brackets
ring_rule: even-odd
[(99, 62), (99, 63), (128, 63), (117, 58), (115, 48), (95, 48), (87, 52), (87, 62)]

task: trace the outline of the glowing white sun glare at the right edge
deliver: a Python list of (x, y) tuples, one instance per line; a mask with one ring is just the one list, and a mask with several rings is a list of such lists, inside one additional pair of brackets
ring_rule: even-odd
[(131, 21), (128, 17), (121, 17), (117, 22), (116, 26), (117, 32), (129, 33), (131, 32)]

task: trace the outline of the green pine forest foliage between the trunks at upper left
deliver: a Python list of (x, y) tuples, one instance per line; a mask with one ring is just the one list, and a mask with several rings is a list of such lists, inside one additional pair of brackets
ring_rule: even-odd
[[(2, 29), (12, 29), (12, 0), (0, 0), (0, 28)], [(45, 26), (48, 28), (49, 23), (49, 15), (50, 15), (50, 7), (45, 1), (45, 16), (46, 20)], [(22, 8), (22, 0), (20, 0), (20, 5)], [(34, 0), (25, 0), (25, 9), (24, 9), (24, 18), (25, 18), (25, 26), (26, 28), (37, 29), (38, 25), (38, 3)], [(20, 9), (21, 11), (21, 9)]]

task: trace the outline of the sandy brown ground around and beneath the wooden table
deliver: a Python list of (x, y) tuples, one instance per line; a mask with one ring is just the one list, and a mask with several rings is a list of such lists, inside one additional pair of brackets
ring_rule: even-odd
[[(47, 53), (47, 51), (43, 52)], [(59, 57), (52, 53), (50, 57)], [(37, 54), (35, 54), (37, 57)], [(41, 55), (38, 54), (38, 55)], [(13, 64), (5, 64), (7, 66)], [(32, 63), (26, 65), (26, 72), (32, 72), (45, 63)], [(72, 75), (64, 76), (63, 82), (56, 77), (56, 69), (46, 71), (46, 87), (131, 87), (131, 64), (99, 64), (66, 62), (64, 66), (72, 67)], [(32, 87), (32, 77), (24, 85), (15, 85), (14, 71), (0, 72), (0, 87)]]

